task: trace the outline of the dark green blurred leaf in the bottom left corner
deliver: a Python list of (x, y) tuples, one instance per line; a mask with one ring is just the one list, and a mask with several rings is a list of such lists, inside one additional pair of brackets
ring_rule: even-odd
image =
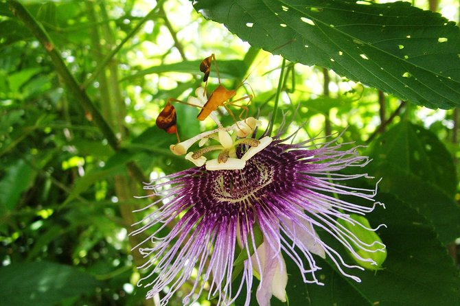
[(75, 267), (50, 262), (16, 263), (0, 270), (0, 305), (48, 306), (93, 292), (97, 281)]

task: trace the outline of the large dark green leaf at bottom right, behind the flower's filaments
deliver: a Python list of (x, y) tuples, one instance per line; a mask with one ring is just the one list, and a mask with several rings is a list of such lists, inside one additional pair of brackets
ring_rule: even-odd
[[(303, 283), (297, 265), (284, 256), (289, 276), (286, 287), (289, 303), (281, 303), (273, 297), (271, 305), (450, 306), (452, 301), (460, 301), (458, 271), (432, 226), (408, 203), (394, 196), (381, 193), (378, 200), (385, 203), (386, 209), (378, 208), (367, 217), (373, 226), (380, 223), (387, 225), (387, 228), (378, 231), (388, 252), (382, 270), (345, 268), (350, 274), (360, 277), (361, 282), (356, 283), (338, 272), (332, 261), (323, 261), (315, 256), (321, 267), (317, 276), (324, 283), (320, 286)], [(347, 263), (353, 262), (336, 239), (321, 231), (319, 235)], [(254, 306), (257, 305), (257, 285), (256, 281), (251, 298)], [(242, 294), (236, 305), (243, 305), (244, 298)]]

